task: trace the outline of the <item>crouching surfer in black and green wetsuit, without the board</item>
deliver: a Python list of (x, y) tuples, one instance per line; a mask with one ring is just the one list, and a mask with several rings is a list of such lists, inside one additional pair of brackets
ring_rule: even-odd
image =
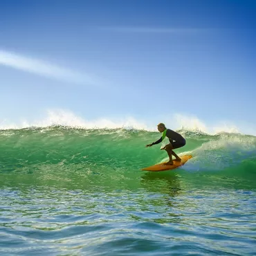
[(179, 147), (183, 147), (185, 146), (185, 138), (183, 138), (183, 136), (181, 136), (181, 134), (178, 134), (176, 131), (172, 131), (171, 129), (167, 129), (165, 127), (165, 125), (161, 122), (160, 124), (158, 124), (157, 129), (159, 132), (162, 132), (162, 136), (159, 140), (156, 140), (156, 142), (152, 143), (152, 144), (148, 144), (146, 145), (146, 147), (152, 147), (153, 145), (156, 145), (158, 143), (161, 143), (163, 141), (163, 139), (165, 138), (165, 136), (167, 136), (167, 138), (169, 138), (170, 140), (170, 144), (165, 145), (165, 147), (161, 148), (161, 150), (165, 149), (170, 160), (169, 162), (166, 163), (166, 165), (173, 165), (173, 161), (172, 161), (172, 155), (174, 155), (176, 157), (176, 161), (181, 161), (181, 158), (179, 158), (179, 156), (177, 156), (173, 149), (178, 149)]

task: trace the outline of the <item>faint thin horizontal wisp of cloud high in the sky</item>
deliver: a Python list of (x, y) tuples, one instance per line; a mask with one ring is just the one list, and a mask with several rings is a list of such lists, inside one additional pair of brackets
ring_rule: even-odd
[(159, 33), (159, 34), (188, 34), (203, 33), (208, 31), (205, 28), (154, 28), (154, 27), (126, 27), (126, 26), (109, 26), (100, 27), (102, 30), (121, 33)]

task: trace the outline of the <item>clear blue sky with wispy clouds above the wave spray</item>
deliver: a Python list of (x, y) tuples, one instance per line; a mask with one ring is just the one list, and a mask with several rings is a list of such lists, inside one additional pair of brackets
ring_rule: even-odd
[(178, 114), (256, 134), (255, 11), (236, 0), (0, 1), (0, 120), (64, 109), (172, 127)]

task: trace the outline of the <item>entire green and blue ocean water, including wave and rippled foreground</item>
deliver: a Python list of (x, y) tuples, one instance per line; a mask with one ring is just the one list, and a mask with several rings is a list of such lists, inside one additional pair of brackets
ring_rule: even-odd
[(0, 255), (256, 255), (256, 137), (180, 132), (0, 130)]

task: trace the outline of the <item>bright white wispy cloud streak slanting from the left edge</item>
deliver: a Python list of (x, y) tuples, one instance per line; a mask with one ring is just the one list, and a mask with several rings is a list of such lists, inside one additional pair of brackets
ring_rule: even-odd
[(95, 84), (95, 80), (84, 73), (8, 51), (0, 50), (0, 64), (65, 82)]

